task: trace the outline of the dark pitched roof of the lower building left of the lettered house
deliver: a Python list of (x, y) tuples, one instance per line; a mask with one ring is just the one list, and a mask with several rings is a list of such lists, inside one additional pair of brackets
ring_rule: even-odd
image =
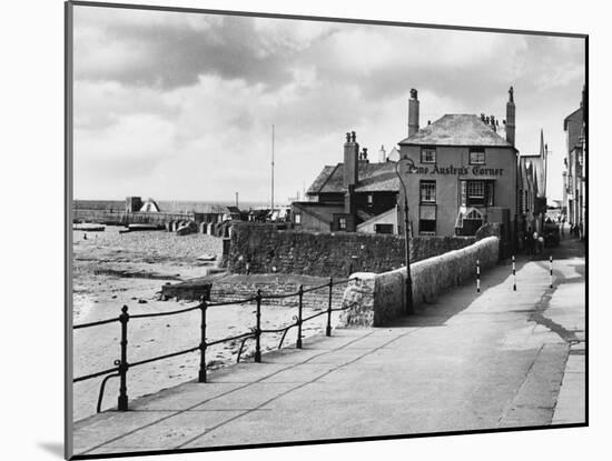
[[(396, 192), (399, 190), (399, 180), (395, 173), (396, 162), (366, 163), (359, 161), (358, 179), (355, 192)], [(306, 194), (344, 193), (344, 163), (335, 167), (324, 167), (323, 171), (308, 188)]]

